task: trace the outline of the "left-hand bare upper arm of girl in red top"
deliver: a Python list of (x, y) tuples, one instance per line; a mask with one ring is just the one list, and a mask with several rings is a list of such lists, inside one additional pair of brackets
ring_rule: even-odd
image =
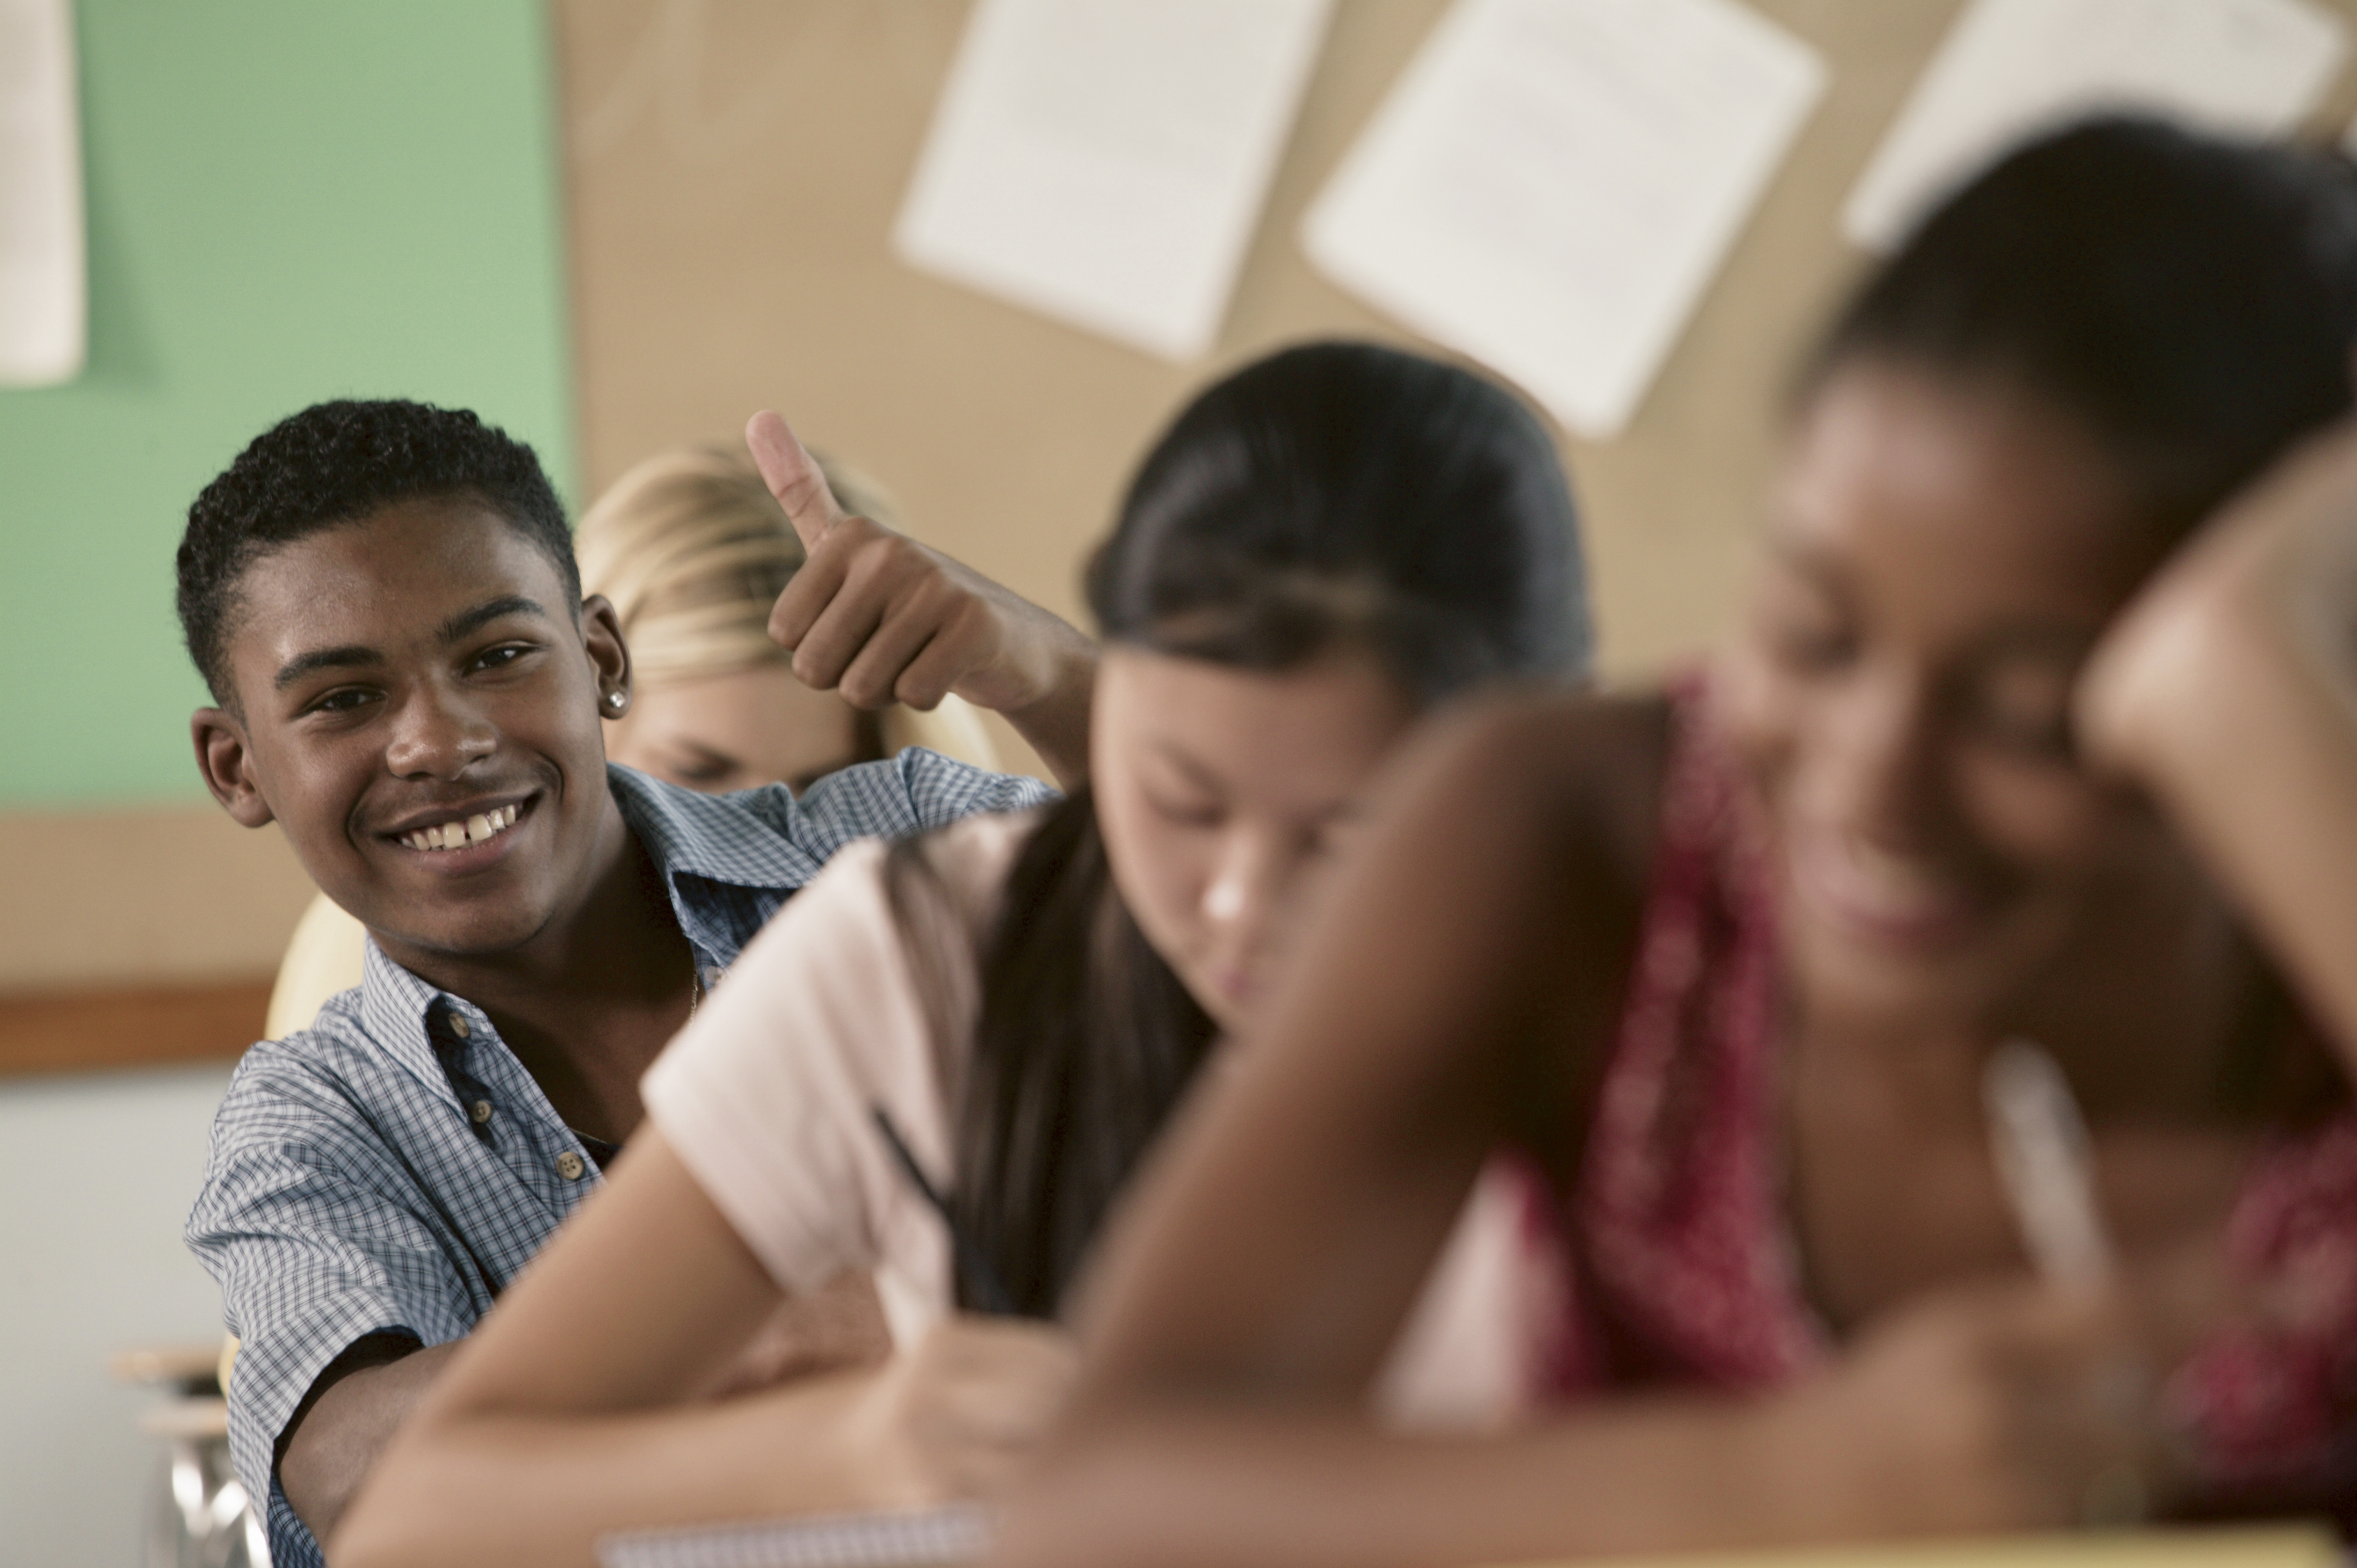
[(1480, 1160), (1579, 1120), (1563, 1068), (1612, 1023), (1636, 875), (1577, 823), (1565, 759), (1643, 757), (1657, 729), (1652, 710), (1523, 700), (1409, 762), (1108, 1240), (1084, 1405), (1360, 1396)]

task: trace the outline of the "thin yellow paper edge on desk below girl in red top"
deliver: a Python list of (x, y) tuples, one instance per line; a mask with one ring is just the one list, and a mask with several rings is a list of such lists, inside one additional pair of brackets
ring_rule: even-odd
[[(1516, 1568), (1572, 1568), (1518, 1563)], [(1577, 1568), (2350, 1568), (2324, 1526), (2234, 1530), (2074, 1530), (1989, 1540), (1789, 1547), (1777, 1551), (1681, 1551), (1586, 1559)]]

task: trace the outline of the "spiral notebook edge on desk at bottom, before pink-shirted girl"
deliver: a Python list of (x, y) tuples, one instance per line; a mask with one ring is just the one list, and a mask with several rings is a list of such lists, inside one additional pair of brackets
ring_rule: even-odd
[(603, 1568), (950, 1568), (976, 1563), (988, 1549), (990, 1514), (976, 1504), (955, 1504), (625, 1530), (599, 1537), (596, 1556)]

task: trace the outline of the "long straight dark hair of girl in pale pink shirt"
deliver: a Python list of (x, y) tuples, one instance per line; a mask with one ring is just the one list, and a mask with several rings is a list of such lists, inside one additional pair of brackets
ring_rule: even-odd
[[(1087, 580), (1105, 641), (1261, 672), (1353, 644), (1419, 703), (1589, 660), (1553, 441), (1494, 382), (1372, 344), (1289, 349), (1197, 396)], [(962, 1280), (962, 1304), (1056, 1316), (1214, 1037), (1072, 792), (1016, 856), (981, 950), (950, 1212), (1006, 1302)]]

